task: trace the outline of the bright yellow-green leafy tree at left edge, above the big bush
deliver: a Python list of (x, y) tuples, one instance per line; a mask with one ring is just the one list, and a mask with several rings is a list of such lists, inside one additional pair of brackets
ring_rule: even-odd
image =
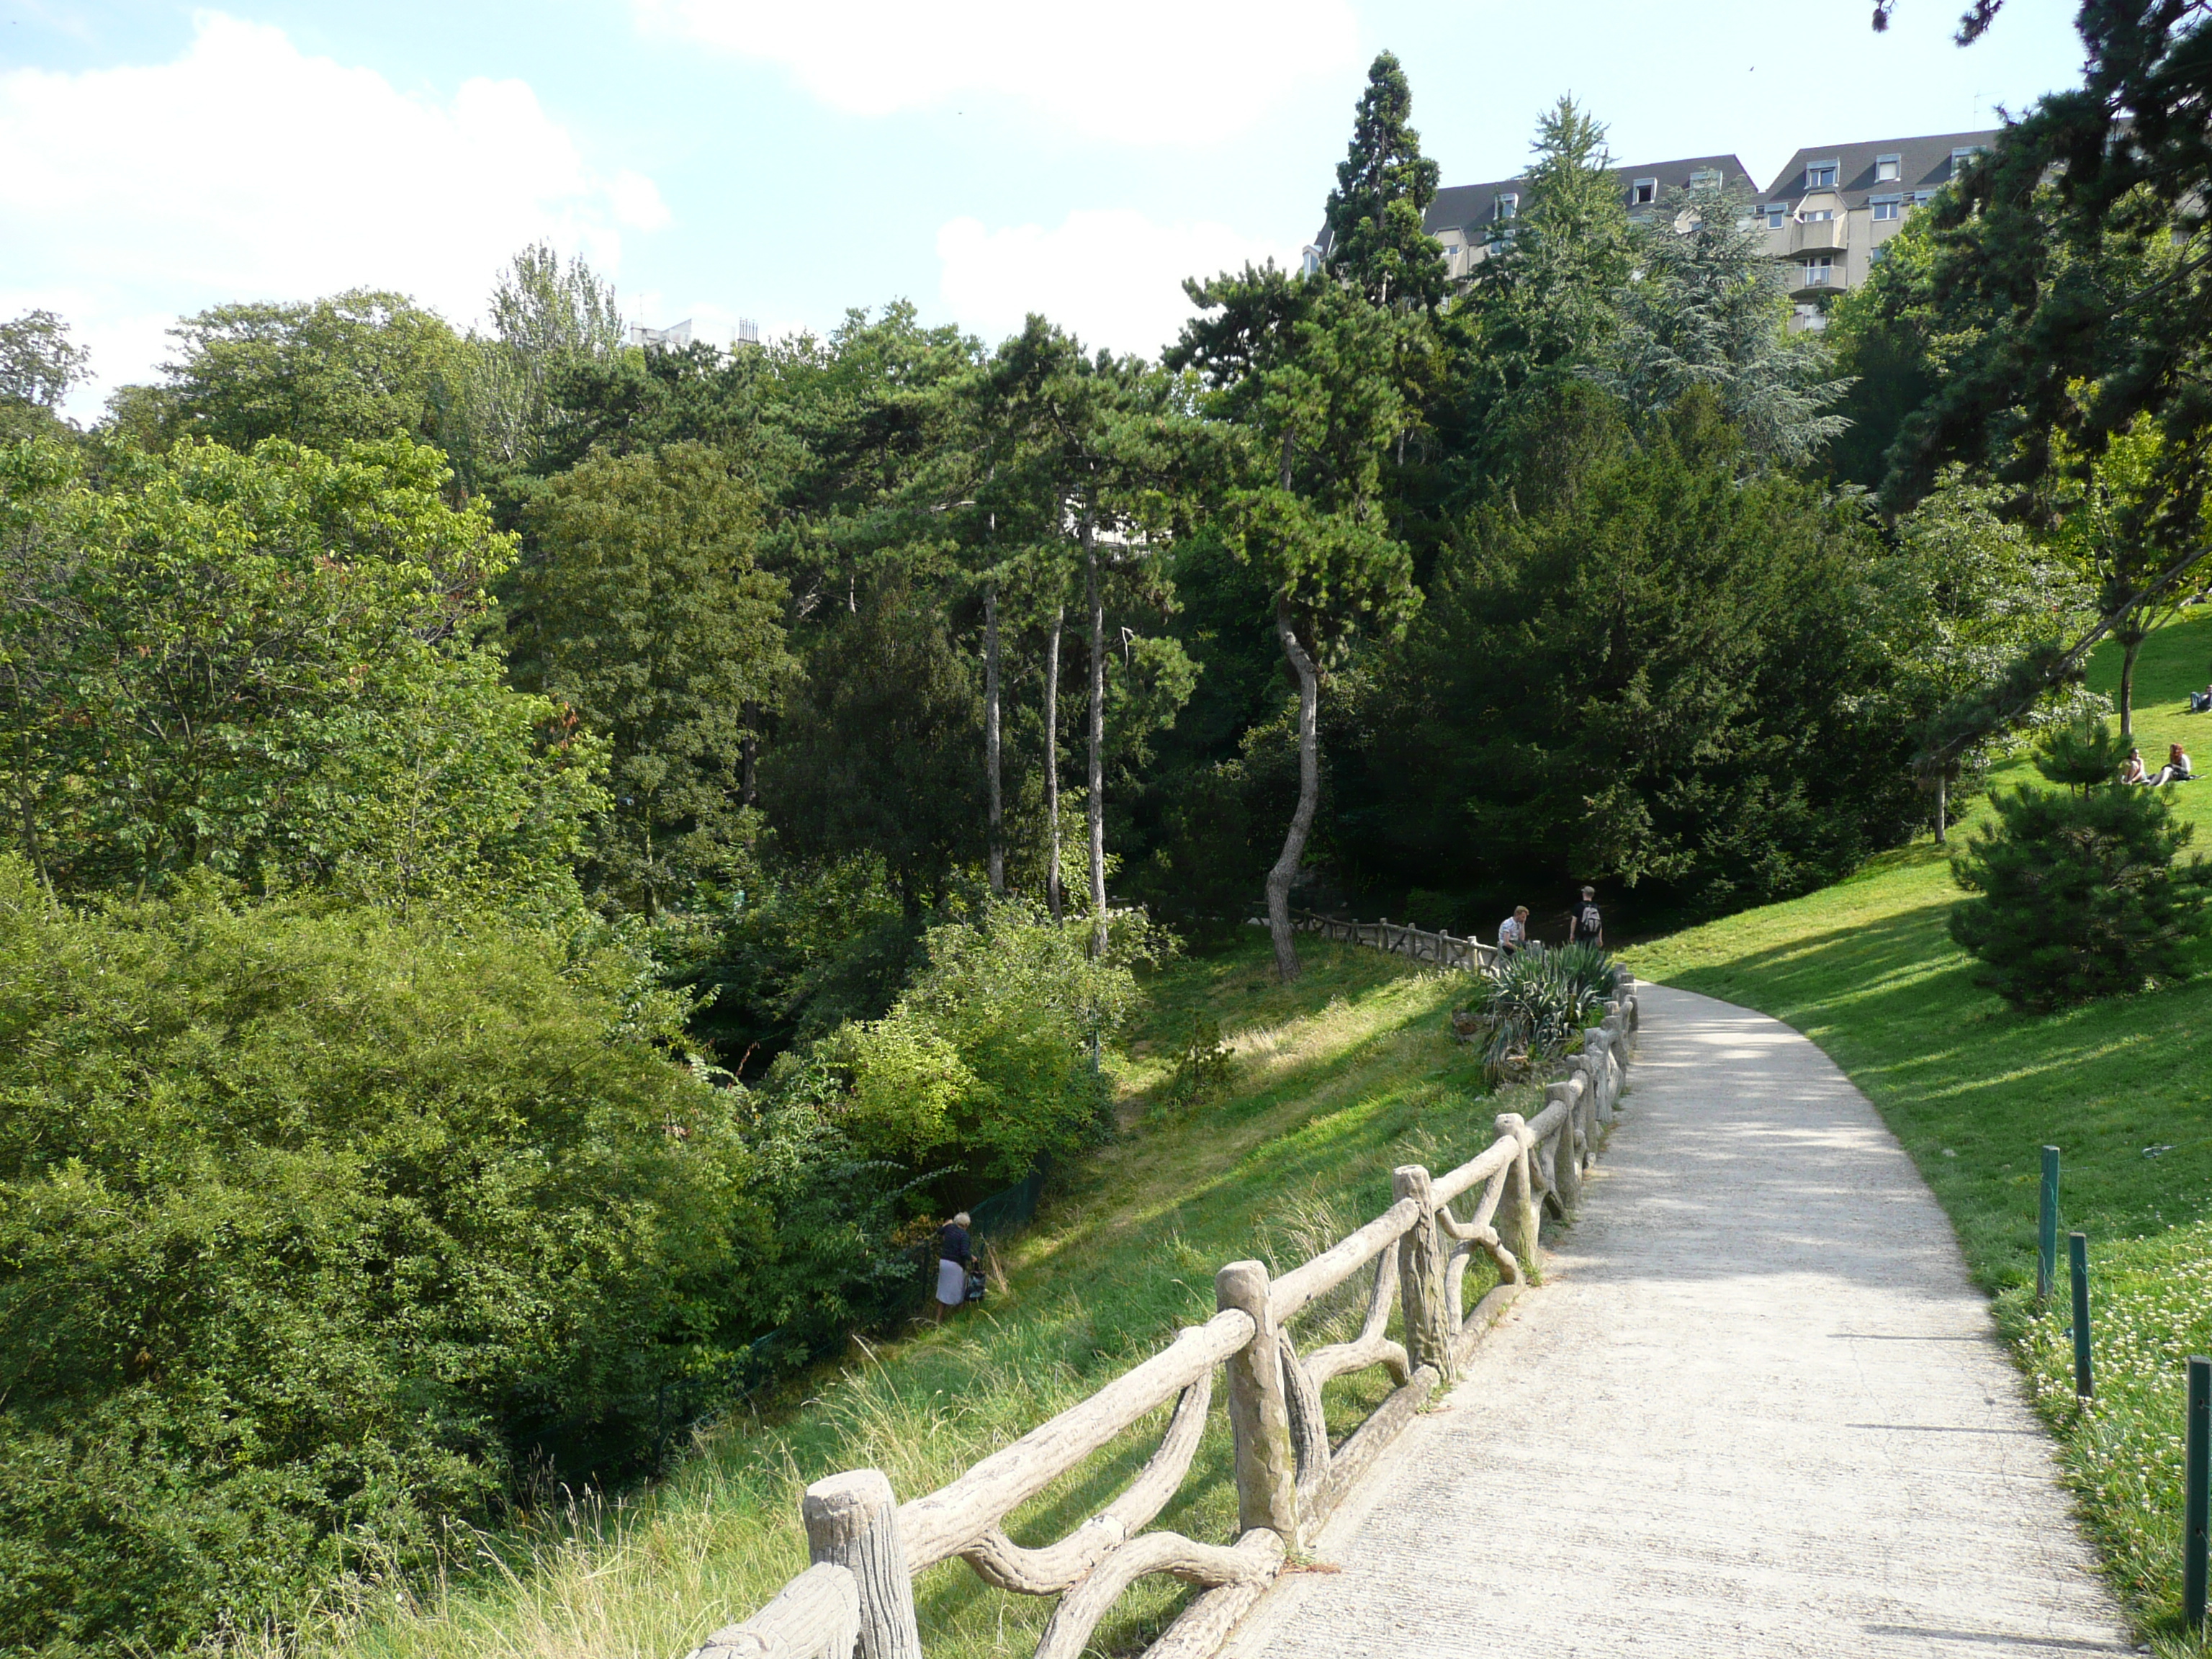
[[(184, 440), (108, 487), (0, 449), (0, 730), (24, 858), (58, 889), (195, 867), (573, 902), (591, 741), (469, 633), (509, 562), (438, 451)], [(451, 790), (467, 776), (482, 792)], [(389, 836), (389, 838), (387, 838)]]

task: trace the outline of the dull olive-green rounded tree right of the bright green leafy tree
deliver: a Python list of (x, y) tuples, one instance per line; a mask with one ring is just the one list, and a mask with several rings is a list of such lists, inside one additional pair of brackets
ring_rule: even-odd
[(759, 522), (754, 489), (695, 442), (593, 456), (526, 513), (518, 677), (613, 745), (588, 878), (646, 916), (728, 874), (748, 710), (772, 710), (796, 666)]

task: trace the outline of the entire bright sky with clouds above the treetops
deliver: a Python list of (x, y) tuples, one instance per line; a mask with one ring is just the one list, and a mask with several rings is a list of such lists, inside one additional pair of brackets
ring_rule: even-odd
[(2079, 80), (2011, 0), (0, 0), (0, 319), (153, 378), (226, 301), (387, 288), (456, 325), (551, 239), (628, 321), (726, 343), (914, 301), (1152, 354), (1181, 279), (1296, 263), (1378, 51), (1442, 181), (1511, 177), (1562, 93), (1617, 161), (1993, 126)]

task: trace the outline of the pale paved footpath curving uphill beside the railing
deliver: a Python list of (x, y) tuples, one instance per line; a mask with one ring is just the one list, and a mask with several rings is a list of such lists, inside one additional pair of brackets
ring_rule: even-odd
[[(1546, 1283), (1237, 1659), (2132, 1652), (1951, 1228), (1805, 1037), (1639, 989)], [(2033, 1148), (2022, 1148), (2028, 1168)]]

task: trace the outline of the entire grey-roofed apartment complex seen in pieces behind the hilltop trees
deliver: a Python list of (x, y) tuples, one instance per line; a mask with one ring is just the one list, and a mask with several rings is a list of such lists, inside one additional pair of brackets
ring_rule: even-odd
[[(1730, 184), (1752, 199), (1754, 226), (1767, 252), (1787, 265), (1792, 327), (1820, 327), (1827, 305), (1863, 281), (1905, 217), (1929, 201), (1995, 131), (1940, 133), (1798, 150), (1765, 190), (1734, 155), (1690, 155), (1677, 161), (1613, 168), (1630, 219), (1648, 219), (1670, 190)], [(1453, 276), (1489, 257), (1489, 243), (1528, 199), (1528, 179), (1455, 184), (1436, 192), (1422, 228), (1444, 243)], [(1329, 232), (1305, 250), (1305, 268), (1329, 257)]]

